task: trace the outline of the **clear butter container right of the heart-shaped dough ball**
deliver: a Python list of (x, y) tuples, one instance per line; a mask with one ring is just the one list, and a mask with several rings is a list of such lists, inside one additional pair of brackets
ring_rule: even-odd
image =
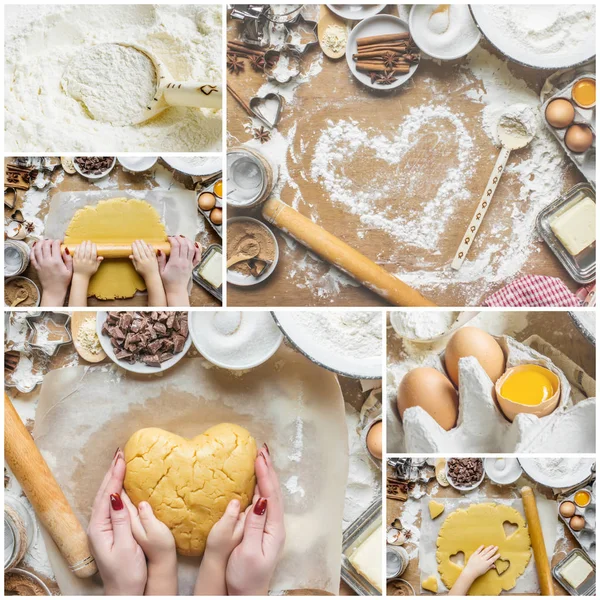
[[(373, 544), (373, 550), (369, 550), (368, 554), (373, 564), (379, 568), (377, 579), (380, 585), (383, 586), (385, 581), (381, 566), (384, 547), (381, 510), (381, 500), (376, 500), (344, 531), (342, 540), (342, 579), (359, 596), (381, 596), (381, 591), (367, 579), (359, 568), (355, 567), (360, 554), (362, 554), (360, 548), (363, 544), (369, 546)], [(376, 532), (378, 530), (381, 531), (380, 539), (377, 539)], [(375, 535), (375, 538), (372, 538), (372, 535)], [(377, 551), (379, 554), (377, 554)]]

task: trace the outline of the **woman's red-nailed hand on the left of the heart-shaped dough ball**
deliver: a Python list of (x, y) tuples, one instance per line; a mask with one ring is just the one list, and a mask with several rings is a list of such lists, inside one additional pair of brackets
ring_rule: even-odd
[(133, 537), (131, 517), (121, 498), (125, 469), (118, 449), (96, 494), (88, 526), (90, 549), (107, 596), (142, 596), (146, 587), (146, 557)]

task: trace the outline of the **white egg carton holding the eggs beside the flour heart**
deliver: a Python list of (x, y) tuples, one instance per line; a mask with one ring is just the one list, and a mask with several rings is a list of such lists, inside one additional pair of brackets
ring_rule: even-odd
[[(567, 153), (569, 158), (575, 163), (575, 166), (581, 171), (583, 176), (592, 184), (596, 184), (596, 108), (581, 108), (571, 99), (571, 91), (573, 86), (580, 81), (581, 79), (593, 79), (596, 81), (596, 75), (593, 73), (586, 73), (577, 76), (569, 85), (562, 88), (552, 96), (550, 96), (543, 104), (542, 104), (542, 118), (544, 119), (544, 123), (546, 127), (552, 132), (552, 135), (558, 140), (559, 144), (562, 146), (563, 150)], [(575, 118), (573, 120), (573, 124), (579, 125), (588, 125), (594, 134), (594, 141), (592, 142), (591, 147), (582, 152), (581, 154), (577, 154), (576, 152), (572, 152), (567, 148), (565, 144), (565, 134), (567, 132), (568, 127), (564, 129), (556, 129), (546, 121), (546, 107), (552, 100), (556, 100), (558, 98), (563, 98), (564, 100), (568, 100), (573, 105), (575, 109)]]

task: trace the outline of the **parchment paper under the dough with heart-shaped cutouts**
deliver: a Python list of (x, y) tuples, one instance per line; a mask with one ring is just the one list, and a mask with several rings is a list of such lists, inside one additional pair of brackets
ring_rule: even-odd
[[(544, 543), (549, 559), (554, 555), (554, 546), (556, 545), (556, 523), (558, 515), (558, 504), (554, 500), (548, 500), (543, 496), (536, 494), (538, 512), (542, 531), (544, 533)], [(440, 502), (445, 506), (444, 512), (437, 519), (429, 518), (429, 496), (424, 496), (421, 499), (421, 535), (419, 538), (419, 568), (421, 571), (420, 581), (423, 581), (430, 575), (435, 575), (438, 580), (439, 593), (447, 591), (446, 586), (442, 583), (438, 573), (437, 560), (435, 558), (437, 550), (437, 538), (440, 529), (445, 519), (458, 508), (468, 508), (471, 504), (481, 504), (483, 502), (492, 502), (494, 504), (507, 504), (518, 510), (523, 517), (523, 501), (520, 498), (489, 498), (469, 499), (469, 498), (435, 498), (436, 502)], [(533, 552), (531, 559), (521, 577), (517, 579), (517, 585), (505, 594), (521, 595), (521, 594), (538, 594), (540, 586), (535, 570), (535, 561)]]

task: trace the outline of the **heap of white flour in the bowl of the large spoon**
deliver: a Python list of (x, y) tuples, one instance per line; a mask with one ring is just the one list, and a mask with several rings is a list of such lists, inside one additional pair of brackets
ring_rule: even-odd
[(96, 121), (130, 125), (156, 93), (156, 70), (135, 48), (99, 44), (71, 60), (61, 85)]

